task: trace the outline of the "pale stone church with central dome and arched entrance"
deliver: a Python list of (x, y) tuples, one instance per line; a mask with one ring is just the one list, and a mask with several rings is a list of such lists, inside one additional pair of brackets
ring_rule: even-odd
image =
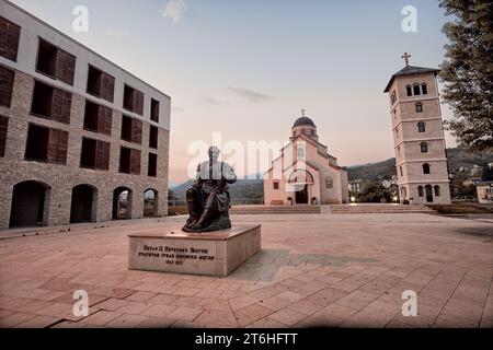
[(264, 203), (347, 203), (347, 171), (319, 142), (313, 120), (305, 116), (296, 120), (289, 140), (264, 174)]

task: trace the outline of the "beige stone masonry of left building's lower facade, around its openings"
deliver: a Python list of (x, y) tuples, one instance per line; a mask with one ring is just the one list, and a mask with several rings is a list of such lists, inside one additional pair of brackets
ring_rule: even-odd
[[(48, 82), (49, 83), (49, 82)], [(104, 136), (83, 129), (85, 97), (72, 94), (70, 125), (56, 122), (31, 115), (34, 78), (15, 71), (14, 93), (11, 108), (0, 107), (0, 114), (9, 117), (5, 156), (0, 158), (0, 229), (8, 229), (11, 213), (12, 192), (16, 184), (35, 180), (46, 188), (44, 224), (62, 225), (70, 223), (72, 188), (85, 184), (96, 189), (98, 205), (93, 207), (94, 221), (112, 220), (113, 190), (124, 186), (133, 192), (131, 218), (144, 215), (144, 192), (154, 189), (159, 192), (158, 215), (168, 212), (169, 174), (169, 130), (159, 128), (159, 149), (150, 150), (149, 126), (142, 121), (142, 143), (128, 143), (121, 140), (122, 113), (113, 110), (112, 136)], [(94, 98), (94, 102), (98, 102)], [(163, 106), (164, 107), (164, 106)], [(67, 165), (25, 161), (27, 128), (30, 124), (60, 129), (69, 132)], [(82, 137), (111, 143), (110, 171), (95, 171), (80, 167)], [(119, 148), (126, 145), (141, 151), (140, 176), (118, 173)], [(158, 177), (148, 177), (148, 153), (158, 154)]]

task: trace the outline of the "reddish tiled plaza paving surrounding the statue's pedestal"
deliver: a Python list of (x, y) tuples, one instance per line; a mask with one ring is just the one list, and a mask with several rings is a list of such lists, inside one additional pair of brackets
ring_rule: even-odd
[[(263, 250), (228, 278), (127, 269), (129, 233), (183, 217), (0, 232), (0, 327), (493, 327), (491, 219), (232, 219), (262, 223)], [(89, 317), (73, 316), (76, 290)], [(405, 290), (416, 317), (402, 315)]]

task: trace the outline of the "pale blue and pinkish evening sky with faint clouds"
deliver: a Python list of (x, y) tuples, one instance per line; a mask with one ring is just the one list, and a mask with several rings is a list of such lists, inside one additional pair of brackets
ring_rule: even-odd
[[(13, 2), (171, 96), (172, 185), (187, 179), (192, 142), (286, 141), (301, 109), (340, 165), (394, 156), (383, 89), (404, 51), (411, 66), (439, 67), (449, 21), (434, 0)], [(77, 5), (87, 33), (72, 28)], [(405, 5), (415, 33), (402, 31)]]

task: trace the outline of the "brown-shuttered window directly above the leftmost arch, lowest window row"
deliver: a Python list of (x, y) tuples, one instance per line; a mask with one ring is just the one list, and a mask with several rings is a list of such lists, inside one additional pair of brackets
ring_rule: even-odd
[(25, 160), (67, 164), (68, 137), (67, 131), (30, 125)]

